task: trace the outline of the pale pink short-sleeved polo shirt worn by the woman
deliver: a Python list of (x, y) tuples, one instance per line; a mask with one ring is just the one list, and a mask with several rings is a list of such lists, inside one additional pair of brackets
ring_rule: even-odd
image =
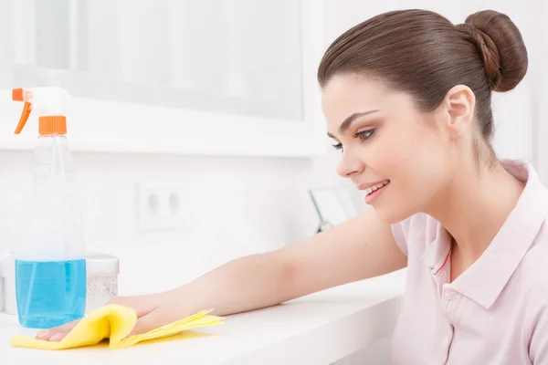
[(416, 214), (392, 227), (407, 255), (395, 364), (548, 364), (548, 190), (530, 164), (504, 162), (527, 182), (483, 255), (452, 283), (449, 235)]

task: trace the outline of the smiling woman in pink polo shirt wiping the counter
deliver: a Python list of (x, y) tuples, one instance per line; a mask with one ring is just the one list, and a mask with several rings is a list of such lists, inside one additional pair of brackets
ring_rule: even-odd
[(494, 11), (458, 26), (395, 11), (348, 30), (321, 60), (322, 109), (338, 173), (374, 209), (169, 292), (115, 298), (137, 310), (133, 334), (407, 266), (395, 363), (548, 363), (548, 191), (531, 165), (501, 162), (490, 145), (491, 91), (514, 89), (527, 62), (519, 30)]

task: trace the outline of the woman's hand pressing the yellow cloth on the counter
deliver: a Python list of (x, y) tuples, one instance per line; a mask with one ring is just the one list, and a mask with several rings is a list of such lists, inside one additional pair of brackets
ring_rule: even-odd
[[(113, 297), (109, 304), (130, 307), (137, 312), (137, 323), (129, 336), (139, 335), (154, 328), (162, 327), (187, 315), (182, 313), (182, 310), (177, 310), (179, 306), (177, 306), (174, 292), (135, 297)], [(75, 320), (57, 328), (41, 330), (37, 333), (37, 339), (60, 341), (67, 336), (68, 332), (78, 322), (79, 320)]]

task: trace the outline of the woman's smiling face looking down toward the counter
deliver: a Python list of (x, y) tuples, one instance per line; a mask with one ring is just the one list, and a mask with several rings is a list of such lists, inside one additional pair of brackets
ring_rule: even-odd
[(337, 172), (364, 191), (386, 223), (427, 211), (450, 183), (455, 153), (440, 128), (447, 113), (420, 112), (410, 95), (355, 75), (333, 77), (321, 103), (341, 150)]

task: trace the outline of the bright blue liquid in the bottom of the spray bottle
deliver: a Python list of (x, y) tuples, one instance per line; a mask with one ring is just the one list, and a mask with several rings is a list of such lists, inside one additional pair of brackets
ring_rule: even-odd
[(86, 260), (16, 260), (19, 323), (26, 328), (52, 328), (84, 317)]

